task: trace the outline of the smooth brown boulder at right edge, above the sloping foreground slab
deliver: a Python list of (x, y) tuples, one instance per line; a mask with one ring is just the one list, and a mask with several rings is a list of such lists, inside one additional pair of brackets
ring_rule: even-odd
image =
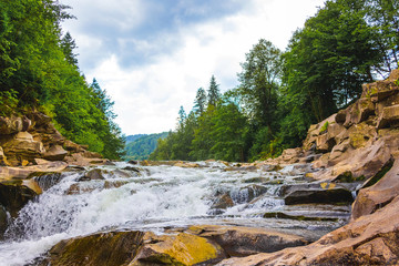
[(372, 214), (399, 195), (399, 160), (375, 185), (360, 190), (352, 205), (351, 219)]

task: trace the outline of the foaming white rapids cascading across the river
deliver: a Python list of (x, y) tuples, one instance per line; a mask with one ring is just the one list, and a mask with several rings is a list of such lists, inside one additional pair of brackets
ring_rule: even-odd
[[(110, 171), (105, 181), (79, 182), (83, 172), (64, 173), (58, 184), (21, 209), (7, 232), (8, 239), (0, 242), (0, 265), (25, 265), (61, 239), (104, 229), (162, 232), (165, 226), (201, 223), (299, 226), (262, 218), (265, 212), (284, 208), (284, 201), (276, 196), (279, 187), (276, 181), (287, 184), (300, 180), (301, 175), (289, 175), (291, 168), (279, 173), (239, 172), (224, 171), (219, 163), (202, 165), (206, 167), (149, 166), (143, 167), (146, 171), (139, 177), (124, 171), (131, 173), (126, 177), (114, 171), (127, 166), (120, 163), (103, 166)], [(105, 183), (119, 187), (104, 188)], [(262, 193), (250, 188), (255, 184), (262, 187)], [(75, 191), (72, 194), (71, 187)], [(212, 208), (215, 195), (223, 194), (231, 195), (234, 206), (215, 213)], [(306, 226), (311, 231), (311, 226), (319, 225)]]

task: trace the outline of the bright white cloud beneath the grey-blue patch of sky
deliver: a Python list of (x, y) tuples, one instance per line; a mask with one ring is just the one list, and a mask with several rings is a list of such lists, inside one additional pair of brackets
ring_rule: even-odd
[[(130, 1), (123, 2), (129, 7)], [(101, 3), (101, 8), (112, 9), (111, 1)], [(206, 89), (212, 74), (221, 83), (222, 91), (237, 85), (239, 62), (245, 60), (245, 53), (253, 44), (264, 38), (284, 50), (293, 32), (315, 14), (316, 6), (321, 6), (323, 0), (253, 0), (248, 4), (246, 10), (218, 20), (186, 27), (182, 24), (173, 33), (173, 38), (178, 40), (178, 49), (158, 55), (151, 63), (122, 69), (117, 59), (123, 54), (113, 54), (98, 66), (83, 70), (88, 78), (95, 76), (115, 101), (116, 122), (124, 133), (156, 133), (174, 129), (180, 105), (188, 112), (196, 90), (200, 86)], [(123, 23), (126, 25), (122, 28), (129, 24)], [(74, 35), (79, 47), (82, 47), (82, 40), (90, 43), (83, 44), (80, 53), (90, 50), (90, 47), (101, 45), (101, 40), (91, 41), (83, 35)], [(162, 41), (163, 38), (155, 40), (155, 43), (150, 43), (121, 35), (119, 43), (121, 47), (134, 43), (145, 55), (153, 47), (167, 43), (167, 40)]]

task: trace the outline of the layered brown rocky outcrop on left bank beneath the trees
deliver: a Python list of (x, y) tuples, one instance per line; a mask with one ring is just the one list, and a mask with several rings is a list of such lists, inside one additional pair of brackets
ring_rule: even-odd
[[(66, 156), (65, 161), (76, 165), (88, 165), (93, 158), (96, 163), (105, 162), (100, 154), (86, 151), (86, 146), (65, 140), (51, 117), (40, 112), (0, 116), (0, 165), (4, 166), (35, 164), (35, 158), (64, 161)], [(74, 154), (79, 155), (73, 157)]]

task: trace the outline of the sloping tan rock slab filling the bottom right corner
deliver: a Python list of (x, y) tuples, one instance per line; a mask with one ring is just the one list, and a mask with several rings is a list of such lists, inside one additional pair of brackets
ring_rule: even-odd
[(304, 247), (222, 260), (229, 265), (398, 265), (399, 197)]

